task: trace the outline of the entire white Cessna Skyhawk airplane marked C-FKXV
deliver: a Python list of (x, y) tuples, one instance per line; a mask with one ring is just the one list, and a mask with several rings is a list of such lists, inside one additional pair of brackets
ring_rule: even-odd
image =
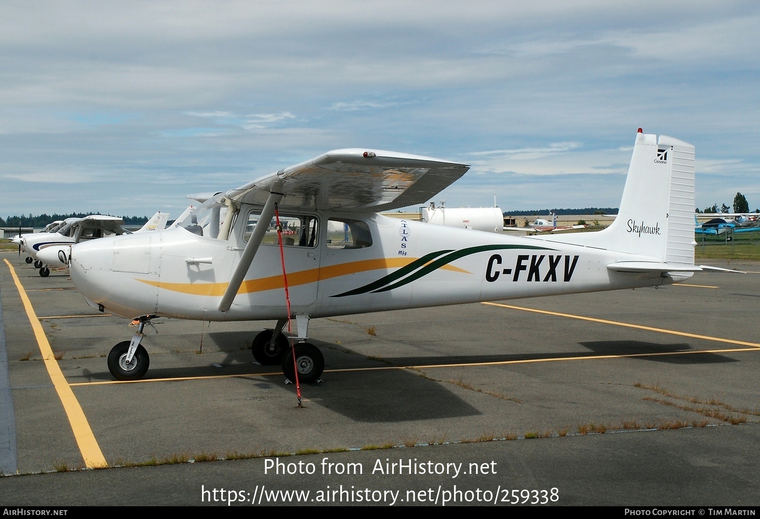
[[(423, 204), (467, 169), (330, 151), (217, 193), (176, 229), (78, 243), (71, 279), (93, 308), (139, 321), (109, 354), (116, 378), (145, 374), (144, 325), (171, 317), (277, 319), (253, 340), (255, 359), (315, 381), (324, 358), (306, 342), (312, 318), (659, 286), (708, 268), (694, 265), (691, 144), (639, 129), (618, 217), (597, 233), (506, 236), (377, 214)], [(293, 351), (280, 333), (289, 318)]]

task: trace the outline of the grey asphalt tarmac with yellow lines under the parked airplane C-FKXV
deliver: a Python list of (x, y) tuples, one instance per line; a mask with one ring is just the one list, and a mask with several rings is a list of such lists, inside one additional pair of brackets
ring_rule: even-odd
[(274, 322), (163, 319), (119, 383), (128, 322), (0, 254), (0, 505), (758, 505), (760, 264), (705, 263), (748, 274), (312, 321), (298, 408)]

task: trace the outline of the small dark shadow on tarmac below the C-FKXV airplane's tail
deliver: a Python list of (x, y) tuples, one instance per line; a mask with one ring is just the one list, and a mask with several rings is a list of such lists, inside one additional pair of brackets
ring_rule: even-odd
[(654, 362), (669, 364), (716, 364), (720, 362), (738, 362), (717, 353), (690, 353), (689, 355), (651, 355), (648, 353), (679, 353), (692, 351), (689, 343), (660, 344), (641, 340), (597, 340), (579, 343), (597, 355), (642, 355), (637, 357)]

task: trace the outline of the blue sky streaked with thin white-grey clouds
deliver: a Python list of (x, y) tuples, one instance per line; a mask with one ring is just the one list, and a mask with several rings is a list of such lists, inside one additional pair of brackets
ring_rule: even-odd
[(760, 206), (758, 2), (2, 2), (0, 215), (174, 216), (340, 147), (449, 207), (617, 207), (636, 128)]

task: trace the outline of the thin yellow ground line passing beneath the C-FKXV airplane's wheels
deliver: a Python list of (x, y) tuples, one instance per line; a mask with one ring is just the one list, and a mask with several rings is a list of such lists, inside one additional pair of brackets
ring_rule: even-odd
[[(599, 359), (627, 359), (629, 357), (651, 357), (665, 355), (694, 355), (698, 353), (733, 353), (741, 351), (760, 351), (757, 348), (731, 348), (728, 350), (689, 350), (657, 353), (625, 353), (620, 355), (581, 355), (575, 357), (549, 357), (548, 359), (518, 359), (518, 360), (495, 360), (492, 362), (461, 362), (458, 364), (416, 364), (410, 366), (375, 366), (372, 368), (344, 368), (344, 369), (325, 369), (325, 373), (344, 373), (344, 372), (377, 372), (386, 369), (431, 369), (431, 368), (467, 368), (477, 366), (505, 366), (507, 364), (531, 364), (534, 362), (561, 362), (563, 360), (599, 360)], [(180, 380), (208, 380), (211, 378), (248, 378), (248, 377), (265, 377), (271, 375), (282, 375), (282, 372), (267, 373), (243, 373), (238, 375), (204, 375), (198, 377), (177, 377), (177, 378), (147, 378), (144, 380), (106, 380), (98, 382), (74, 382), (72, 386), (93, 386), (109, 384), (141, 384), (144, 382), (175, 382)]]

